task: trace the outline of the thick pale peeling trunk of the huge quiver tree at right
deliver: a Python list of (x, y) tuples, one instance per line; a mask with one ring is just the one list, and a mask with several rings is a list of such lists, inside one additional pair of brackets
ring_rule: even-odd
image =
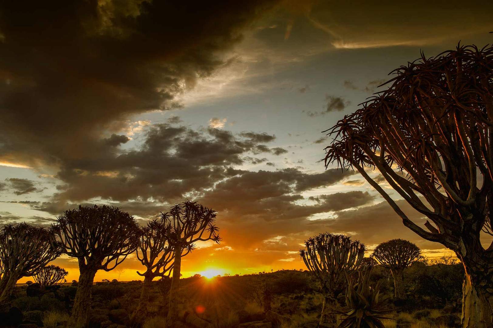
[(482, 273), (480, 269), (478, 267), (466, 267), (465, 270), (460, 318), (463, 328), (493, 327), (492, 274), (478, 275), (478, 271)]

